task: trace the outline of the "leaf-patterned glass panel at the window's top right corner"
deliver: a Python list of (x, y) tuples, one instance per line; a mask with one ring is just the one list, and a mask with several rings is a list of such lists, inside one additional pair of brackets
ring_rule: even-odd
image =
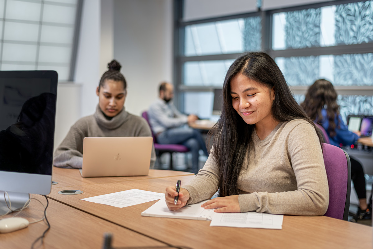
[(335, 40), (336, 44), (373, 42), (373, 1), (336, 6)]

